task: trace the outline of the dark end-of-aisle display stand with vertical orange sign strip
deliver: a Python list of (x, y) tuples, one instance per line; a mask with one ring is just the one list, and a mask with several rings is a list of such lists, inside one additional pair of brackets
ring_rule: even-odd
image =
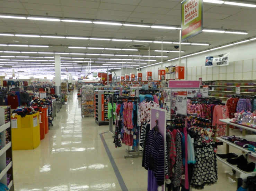
[(95, 122), (98, 125), (108, 125), (107, 118), (107, 102), (109, 93), (112, 93), (113, 96), (117, 96), (120, 93), (120, 90), (95, 90)]

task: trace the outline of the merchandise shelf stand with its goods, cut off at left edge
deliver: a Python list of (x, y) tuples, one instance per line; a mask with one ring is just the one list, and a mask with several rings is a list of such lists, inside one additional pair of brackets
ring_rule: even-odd
[[(8, 114), (5, 114), (7, 110), (9, 110), (9, 116)], [(5, 118), (8, 118), (8, 120)], [(2, 149), (0, 149), (0, 182), (7, 185), (9, 191), (14, 191), (10, 105), (0, 106), (0, 132), (2, 147)], [(6, 137), (7, 133), (9, 134), (9, 137)], [(8, 163), (7, 159), (9, 161)]]

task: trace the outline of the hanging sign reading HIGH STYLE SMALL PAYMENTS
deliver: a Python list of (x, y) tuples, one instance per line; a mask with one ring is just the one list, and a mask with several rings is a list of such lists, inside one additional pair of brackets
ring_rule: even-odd
[(184, 0), (181, 3), (181, 41), (203, 32), (203, 0)]

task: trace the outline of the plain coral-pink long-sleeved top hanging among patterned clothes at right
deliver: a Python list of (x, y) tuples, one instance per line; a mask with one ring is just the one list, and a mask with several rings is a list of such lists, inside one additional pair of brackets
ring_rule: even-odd
[(216, 105), (213, 110), (213, 117), (212, 117), (212, 126), (216, 124), (226, 124), (220, 122), (220, 119), (227, 119), (229, 118), (228, 114), (228, 106), (227, 105)]

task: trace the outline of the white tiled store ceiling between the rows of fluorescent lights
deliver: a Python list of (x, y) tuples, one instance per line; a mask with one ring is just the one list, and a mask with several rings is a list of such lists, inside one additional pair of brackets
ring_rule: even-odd
[[(150, 24), (157, 26), (180, 26), (180, 0), (0, 0), (0, 15), (19, 16), (41, 16), (58, 19), (79, 19), (90, 21), (113, 21), (132, 24)], [(245, 1), (242, 1), (245, 2)], [(256, 0), (250, 1), (256, 4)], [(223, 44), (239, 41), (256, 36), (256, 8), (232, 6), (227, 4), (204, 3), (204, 28), (228, 29), (236, 31), (247, 31), (248, 34), (228, 34), (203, 32), (189, 39), (193, 43), (209, 43), (210, 46), (182, 45), (185, 51), (181, 55), (214, 48)], [(48, 16), (46, 16), (46, 13)], [(142, 23), (143, 20), (143, 23)], [(38, 34), (55, 36), (95, 37), (109, 39), (131, 39), (149, 41), (179, 41), (179, 30), (157, 29), (145, 27), (113, 26), (95, 23), (74, 23), (39, 21), (29, 19), (0, 19), (0, 33), (9, 34)], [(47, 48), (36, 47), (12, 47), (0, 46), (0, 51), (36, 51), (36, 52), (68, 52), (68, 53), (95, 53), (95, 54), (122, 54), (139, 55), (139, 51), (129, 50), (98, 50), (98, 49), (73, 49), (74, 47), (100, 47), (129, 49), (127, 43), (122, 41), (84, 40), (84, 39), (58, 39), (58, 38), (33, 38), (17, 36), (0, 36), (1, 44), (26, 44), (26, 45), (47, 45)], [(140, 42), (133, 42), (140, 43)], [(145, 44), (145, 42), (143, 42)], [(150, 45), (151, 63), (161, 61), (161, 43), (148, 42)], [(145, 44), (147, 45), (147, 44)], [(164, 44), (164, 50), (176, 50), (177, 44)], [(148, 55), (148, 46), (140, 49), (141, 55)], [(164, 60), (178, 56), (178, 52), (164, 52)], [(0, 53), (0, 56), (28, 56), (28, 53)], [(30, 57), (53, 57), (54, 54), (30, 53)], [(61, 57), (81, 58), (106, 58), (106, 59), (131, 59), (127, 56), (107, 55), (61, 55)], [(138, 56), (132, 57), (138, 59)], [(2, 59), (2, 58), (0, 58)], [(28, 60), (31, 58), (28, 58)], [(36, 58), (34, 58), (36, 59)], [(45, 59), (45, 58), (38, 58)], [(141, 59), (148, 59), (143, 57)], [(49, 59), (48, 59), (49, 60)], [(51, 59), (54, 60), (54, 59)], [(85, 61), (85, 59), (83, 59)], [(0, 61), (1, 62), (1, 61)], [(4, 62), (4, 61), (2, 61)], [(9, 61), (6, 61), (9, 62)], [(19, 61), (25, 62), (25, 61)], [(32, 62), (32, 61), (31, 61)], [(37, 61), (35, 61), (37, 62)], [(141, 61), (144, 62), (144, 61)], [(148, 61), (145, 61), (148, 62)], [(51, 61), (48, 62), (49, 64)], [(5, 64), (5, 63), (4, 63)], [(16, 64), (16, 63), (14, 63)], [(87, 64), (87, 63), (85, 63)], [(92, 63), (92, 65), (95, 63)], [(104, 63), (97, 63), (103, 66)], [(3, 67), (7, 67), (2, 65)], [(63, 65), (64, 66), (64, 65)], [(0, 71), (1, 73), (1, 71)]]

